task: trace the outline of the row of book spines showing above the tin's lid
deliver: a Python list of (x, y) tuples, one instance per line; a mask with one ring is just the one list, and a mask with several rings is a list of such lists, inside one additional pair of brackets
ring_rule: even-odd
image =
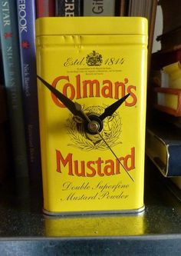
[(143, 16), (154, 24), (157, 1), (38, 0), (37, 16)]

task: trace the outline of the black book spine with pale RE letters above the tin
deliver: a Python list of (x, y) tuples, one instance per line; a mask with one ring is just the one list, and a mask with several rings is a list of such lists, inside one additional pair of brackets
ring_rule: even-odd
[(56, 16), (81, 16), (81, 0), (56, 0)]

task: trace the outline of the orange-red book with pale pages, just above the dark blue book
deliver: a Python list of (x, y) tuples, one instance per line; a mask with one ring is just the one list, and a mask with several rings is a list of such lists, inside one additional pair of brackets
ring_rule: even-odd
[(155, 88), (155, 91), (156, 109), (176, 117), (181, 116), (181, 89)]

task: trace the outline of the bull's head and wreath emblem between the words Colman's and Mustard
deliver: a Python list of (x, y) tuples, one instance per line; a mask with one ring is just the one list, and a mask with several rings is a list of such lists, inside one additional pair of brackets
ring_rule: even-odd
[[(84, 109), (85, 113), (91, 113), (94, 115), (100, 115), (104, 112), (104, 108), (100, 106), (91, 106)], [(100, 131), (100, 135), (107, 141), (110, 148), (115, 145), (119, 145), (121, 133), (121, 118), (120, 115), (115, 112), (111, 117), (104, 119), (104, 128)], [(67, 119), (67, 133), (70, 135), (71, 144), (68, 146), (79, 148), (84, 151), (91, 151), (94, 149), (107, 150), (107, 145), (99, 134), (91, 135), (84, 131), (84, 127), (81, 123), (72, 120), (72, 116)]]

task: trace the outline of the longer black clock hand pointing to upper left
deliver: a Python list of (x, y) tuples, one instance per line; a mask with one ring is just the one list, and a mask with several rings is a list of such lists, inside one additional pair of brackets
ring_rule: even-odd
[(73, 115), (77, 115), (81, 117), (82, 119), (86, 120), (84, 115), (82, 114), (82, 111), (76, 108), (76, 105), (73, 101), (71, 101), (69, 98), (67, 98), (65, 95), (61, 93), (61, 91), (58, 91), (53, 86), (49, 85), (47, 81), (45, 81), (43, 78), (38, 76), (38, 79), (67, 107)]

